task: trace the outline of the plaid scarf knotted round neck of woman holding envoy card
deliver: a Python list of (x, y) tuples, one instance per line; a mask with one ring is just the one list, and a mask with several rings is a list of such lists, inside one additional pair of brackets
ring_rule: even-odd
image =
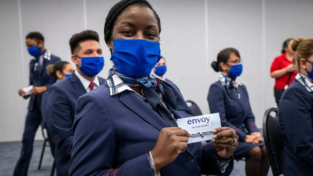
[(154, 89), (158, 85), (157, 82), (156, 82), (156, 79), (155, 78), (151, 78), (150, 76), (145, 76), (145, 77), (142, 77), (142, 78), (135, 79), (135, 78), (131, 78), (131, 77), (127, 76), (127, 75), (123, 75), (123, 74), (119, 73), (116, 70), (114, 65), (113, 65), (113, 69), (110, 69), (110, 71), (109, 71), (109, 75), (111, 75), (111, 74), (118, 75), (118, 77), (120, 77), (121, 80), (126, 85), (129, 85), (130, 87), (142, 87), (142, 86), (144, 86), (146, 88)]

